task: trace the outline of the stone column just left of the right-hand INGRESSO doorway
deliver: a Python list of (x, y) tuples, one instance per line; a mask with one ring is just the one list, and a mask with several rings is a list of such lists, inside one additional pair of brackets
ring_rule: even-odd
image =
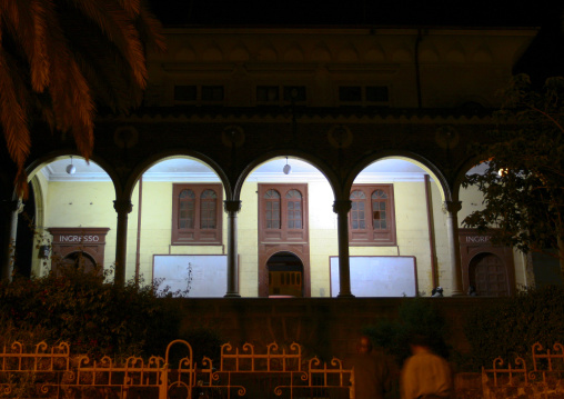
[(449, 238), (449, 252), (451, 255), (451, 289), (452, 296), (463, 296), (462, 290), (462, 266), (461, 245), (459, 240), (459, 211), (462, 208), (461, 201), (445, 201), (443, 207), (446, 215), (446, 235)]

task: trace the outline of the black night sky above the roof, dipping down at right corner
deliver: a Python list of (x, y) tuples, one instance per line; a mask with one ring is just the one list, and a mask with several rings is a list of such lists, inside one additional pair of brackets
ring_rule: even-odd
[(564, 1), (149, 0), (164, 26), (538, 27), (516, 72), (564, 74)]

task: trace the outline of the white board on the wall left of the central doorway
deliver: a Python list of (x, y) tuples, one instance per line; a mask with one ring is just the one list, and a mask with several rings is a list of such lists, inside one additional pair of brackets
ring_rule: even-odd
[(155, 255), (153, 256), (153, 281), (162, 280), (159, 290), (167, 287), (171, 292), (184, 291), (189, 275), (190, 290), (184, 297), (219, 298), (228, 288), (226, 255)]

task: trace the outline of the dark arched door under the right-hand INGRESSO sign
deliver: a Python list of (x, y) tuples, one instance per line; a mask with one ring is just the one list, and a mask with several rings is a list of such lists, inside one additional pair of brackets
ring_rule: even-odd
[(491, 252), (475, 256), (470, 262), (470, 285), (476, 295), (484, 297), (506, 297), (510, 295), (507, 268), (502, 259)]

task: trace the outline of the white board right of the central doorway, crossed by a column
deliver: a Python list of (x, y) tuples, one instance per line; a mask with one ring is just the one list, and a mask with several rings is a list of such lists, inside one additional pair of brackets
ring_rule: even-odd
[[(350, 257), (351, 293), (355, 297), (415, 297), (415, 257)], [(339, 295), (339, 257), (330, 257), (331, 296)]]

